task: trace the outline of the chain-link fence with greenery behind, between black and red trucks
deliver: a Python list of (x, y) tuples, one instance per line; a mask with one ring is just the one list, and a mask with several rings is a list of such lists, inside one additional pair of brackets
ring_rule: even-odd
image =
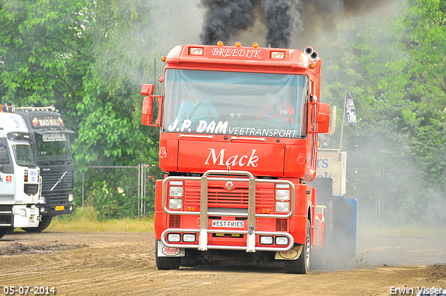
[(99, 219), (143, 217), (153, 213), (157, 166), (88, 166), (75, 172), (75, 206), (93, 207)]

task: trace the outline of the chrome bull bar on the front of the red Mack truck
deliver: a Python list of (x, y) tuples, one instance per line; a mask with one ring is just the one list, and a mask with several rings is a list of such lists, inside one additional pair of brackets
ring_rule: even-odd
[[(245, 178), (222, 178), (218, 176), (245, 176)], [(247, 178), (246, 178), (247, 177)], [(235, 230), (209, 230), (208, 229), (208, 179), (211, 178), (215, 181), (233, 181), (233, 182), (249, 182), (248, 185), (248, 210), (247, 212), (220, 212), (213, 211), (213, 216), (227, 216), (227, 217), (247, 217), (247, 230), (235, 231)], [(201, 181), (201, 194), (200, 194), (200, 211), (178, 211), (169, 210), (166, 207), (166, 192), (167, 184), (171, 180), (200, 180)], [(270, 182), (287, 184), (291, 188), (290, 206), (291, 209), (286, 214), (256, 214), (256, 182)], [(256, 231), (256, 218), (289, 218), (294, 213), (295, 205), (295, 186), (293, 182), (289, 180), (263, 180), (255, 179), (252, 173), (248, 171), (220, 171), (210, 170), (206, 171), (202, 177), (167, 177), (162, 182), (162, 208), (164, 212), (171, 215), (199, 215), (200, 225), (199, 229), (180, 229), (180, 228), (168, 228), (161, 236), (163, 244), (167, 247), (180, 247), (180, 248), (194, 248), (198, 247), (199, 251), (206, 251), (208, 249), (233, 249), (233, 250), (246, 250), (249, 253), (255, 251), (288, 251), (293, 247), (293, 236), (286, 232), (264, 232)], [(165, 240), (167, 233), (199, 233), (198, 244), (171, 244)], [(247, 235), (246, 247), (239, 246), (215, 246), (208, 244), (208, 233), (231, 233), (231, 234), (243, 234)], [(256, 235), (280, 235), (289, 238), (289, 244), (286, 247), (256, 247)]]

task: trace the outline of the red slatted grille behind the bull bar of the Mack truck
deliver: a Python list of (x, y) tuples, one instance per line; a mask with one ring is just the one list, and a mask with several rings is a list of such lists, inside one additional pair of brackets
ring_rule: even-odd
[[(245, 212), (248, 209), (248, 183), (234, 182), (231, 191), (226, 190), (226, 182), (208, 182), (209, 212)], [(199, 182), (185, 183), (185, 201), (187, 209), (199, 208), (201, 185)], [(274, 207), (274, 185), (272, 183), (256, 183), (256, 207)]]

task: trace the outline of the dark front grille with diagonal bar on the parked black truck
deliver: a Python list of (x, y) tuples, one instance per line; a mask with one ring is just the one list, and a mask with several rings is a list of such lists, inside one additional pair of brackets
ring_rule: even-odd
[[(64, 171), (41, 172), (42, 175), (42, 195), (46, 198), (46, 203), (66, 203), (68, 194), (73, 188), (73, 172), (67, 171), (65, 176), (54, 189), (52, 187), (61, 178)], [(51, 190), (52, 189), (52, 190)]]

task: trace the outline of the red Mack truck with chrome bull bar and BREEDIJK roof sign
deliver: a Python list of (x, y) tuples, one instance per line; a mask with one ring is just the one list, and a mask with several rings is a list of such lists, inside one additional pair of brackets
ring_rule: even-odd
[(249, 260), (306, 274), (323, 248), (325, 207), (305, 181), (330, 124), (317, 52), (218, 42), (174, 47), (162, 61), (162, 95), (141, 90), (165, 172), (155, 189), (158, 269)]

